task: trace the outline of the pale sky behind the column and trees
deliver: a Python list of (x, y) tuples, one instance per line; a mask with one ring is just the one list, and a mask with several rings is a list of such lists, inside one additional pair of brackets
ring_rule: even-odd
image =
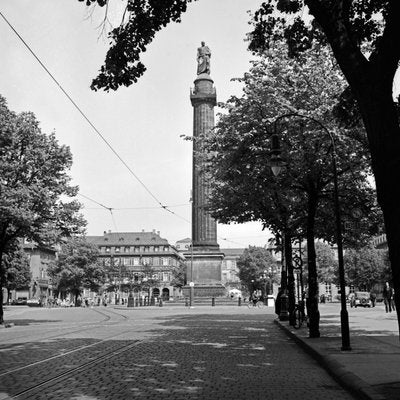
[[(44, 132), (55, 131), (70, 146), (73, 183), (84, 197), (89, 235), (105, 230), (157, 230), (170, 243), (190, 237), (193, 109), (190, 88), (196, 77), (201, 41), (211, 48), (211, 76), (217, 100), (241, 94), (232, 78), (249, 69), (244, 41), (250, 30), (247, 10), (261, 0), (199, 0), (188, 6), (180, 24), (157, 33), (143, 57), (147, 71), (139, 82), (117, 92), (93, 92), (108, 41), (98, 28), (104, 9), (92, 16), (78, 0), (2, 0), (1, 12), (89, 120), (148, 190), (112, 153), (73, 107), (20, 39), (0, 18), (0, 94), (13, 111), (32, 111)], [(110, 18), (118, 19), (111, 2)], [(115, 7), (114, 7), (115, 6)], [(216, 108), (216, 113), (218, 109)], [(149, 193), (151, 192), (151, 194)], [(162, 209), (167, 205), (176, 215)], [(218, 225), (224, 247), (265, 245), (259, 223)]]

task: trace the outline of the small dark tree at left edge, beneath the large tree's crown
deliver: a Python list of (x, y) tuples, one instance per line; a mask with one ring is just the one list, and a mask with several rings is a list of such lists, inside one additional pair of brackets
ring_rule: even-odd
[(31, 282), (32, 273), (29, 258), (20, 247), (9, 254), (3, 254), (3, 265), (5, 271), (5, 285), (8, 299), (12, 290), (26, 289)]

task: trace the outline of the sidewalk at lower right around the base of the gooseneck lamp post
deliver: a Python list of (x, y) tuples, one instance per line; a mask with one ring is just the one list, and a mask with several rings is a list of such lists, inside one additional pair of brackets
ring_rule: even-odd
[(340, 305), (320, 305), (320, 332), (308, 338), (307, 327), (294, 329), (276, 320), (305, 351), (357, 398), (400, 399), (400, 341), (396, 313), (372, 309), (348, 309), (351, 351), (341, 351)]

